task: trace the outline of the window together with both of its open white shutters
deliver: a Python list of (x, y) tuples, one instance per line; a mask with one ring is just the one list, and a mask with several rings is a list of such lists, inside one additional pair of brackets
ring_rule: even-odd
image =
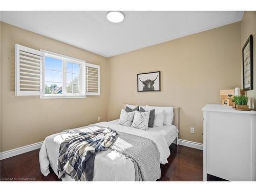
[(16, 95), (84, 98), (99, 95), (99, 66), (45, 50), (15, 45)]

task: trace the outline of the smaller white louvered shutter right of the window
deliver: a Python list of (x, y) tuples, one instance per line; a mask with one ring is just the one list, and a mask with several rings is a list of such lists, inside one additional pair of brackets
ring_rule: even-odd
[(86, 95), (100, 95), (99, 66), (86, 63)]

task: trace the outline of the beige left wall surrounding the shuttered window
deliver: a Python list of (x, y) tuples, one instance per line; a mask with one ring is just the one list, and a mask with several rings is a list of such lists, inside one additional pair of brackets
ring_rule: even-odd
[[(14, 44), (45, 49), (100, 65), (100, 96), (40, 99), (14, 93)], [(106, 58), (57, 40), (1, 23), (1, 152), (43, 141), (46, 136), (106, 120)]]

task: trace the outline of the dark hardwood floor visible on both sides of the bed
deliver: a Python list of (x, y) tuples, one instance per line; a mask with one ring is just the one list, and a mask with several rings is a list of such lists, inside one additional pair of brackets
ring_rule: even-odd
[[(203, 152), (195, 148), (170, 145), (168, 163), (161, 164), (161, 178), (158, 181), (202, 181)], [(17, 155), (0, 161), (1, 181), (61, 181), (53, 170), (45, 177), (40, 172), (39, 150)]]

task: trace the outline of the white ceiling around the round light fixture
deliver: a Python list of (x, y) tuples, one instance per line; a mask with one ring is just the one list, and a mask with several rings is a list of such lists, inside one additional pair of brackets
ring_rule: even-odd
[(243, 11), (2, 11), (5, 23), (111, 57), (241, 20)]

